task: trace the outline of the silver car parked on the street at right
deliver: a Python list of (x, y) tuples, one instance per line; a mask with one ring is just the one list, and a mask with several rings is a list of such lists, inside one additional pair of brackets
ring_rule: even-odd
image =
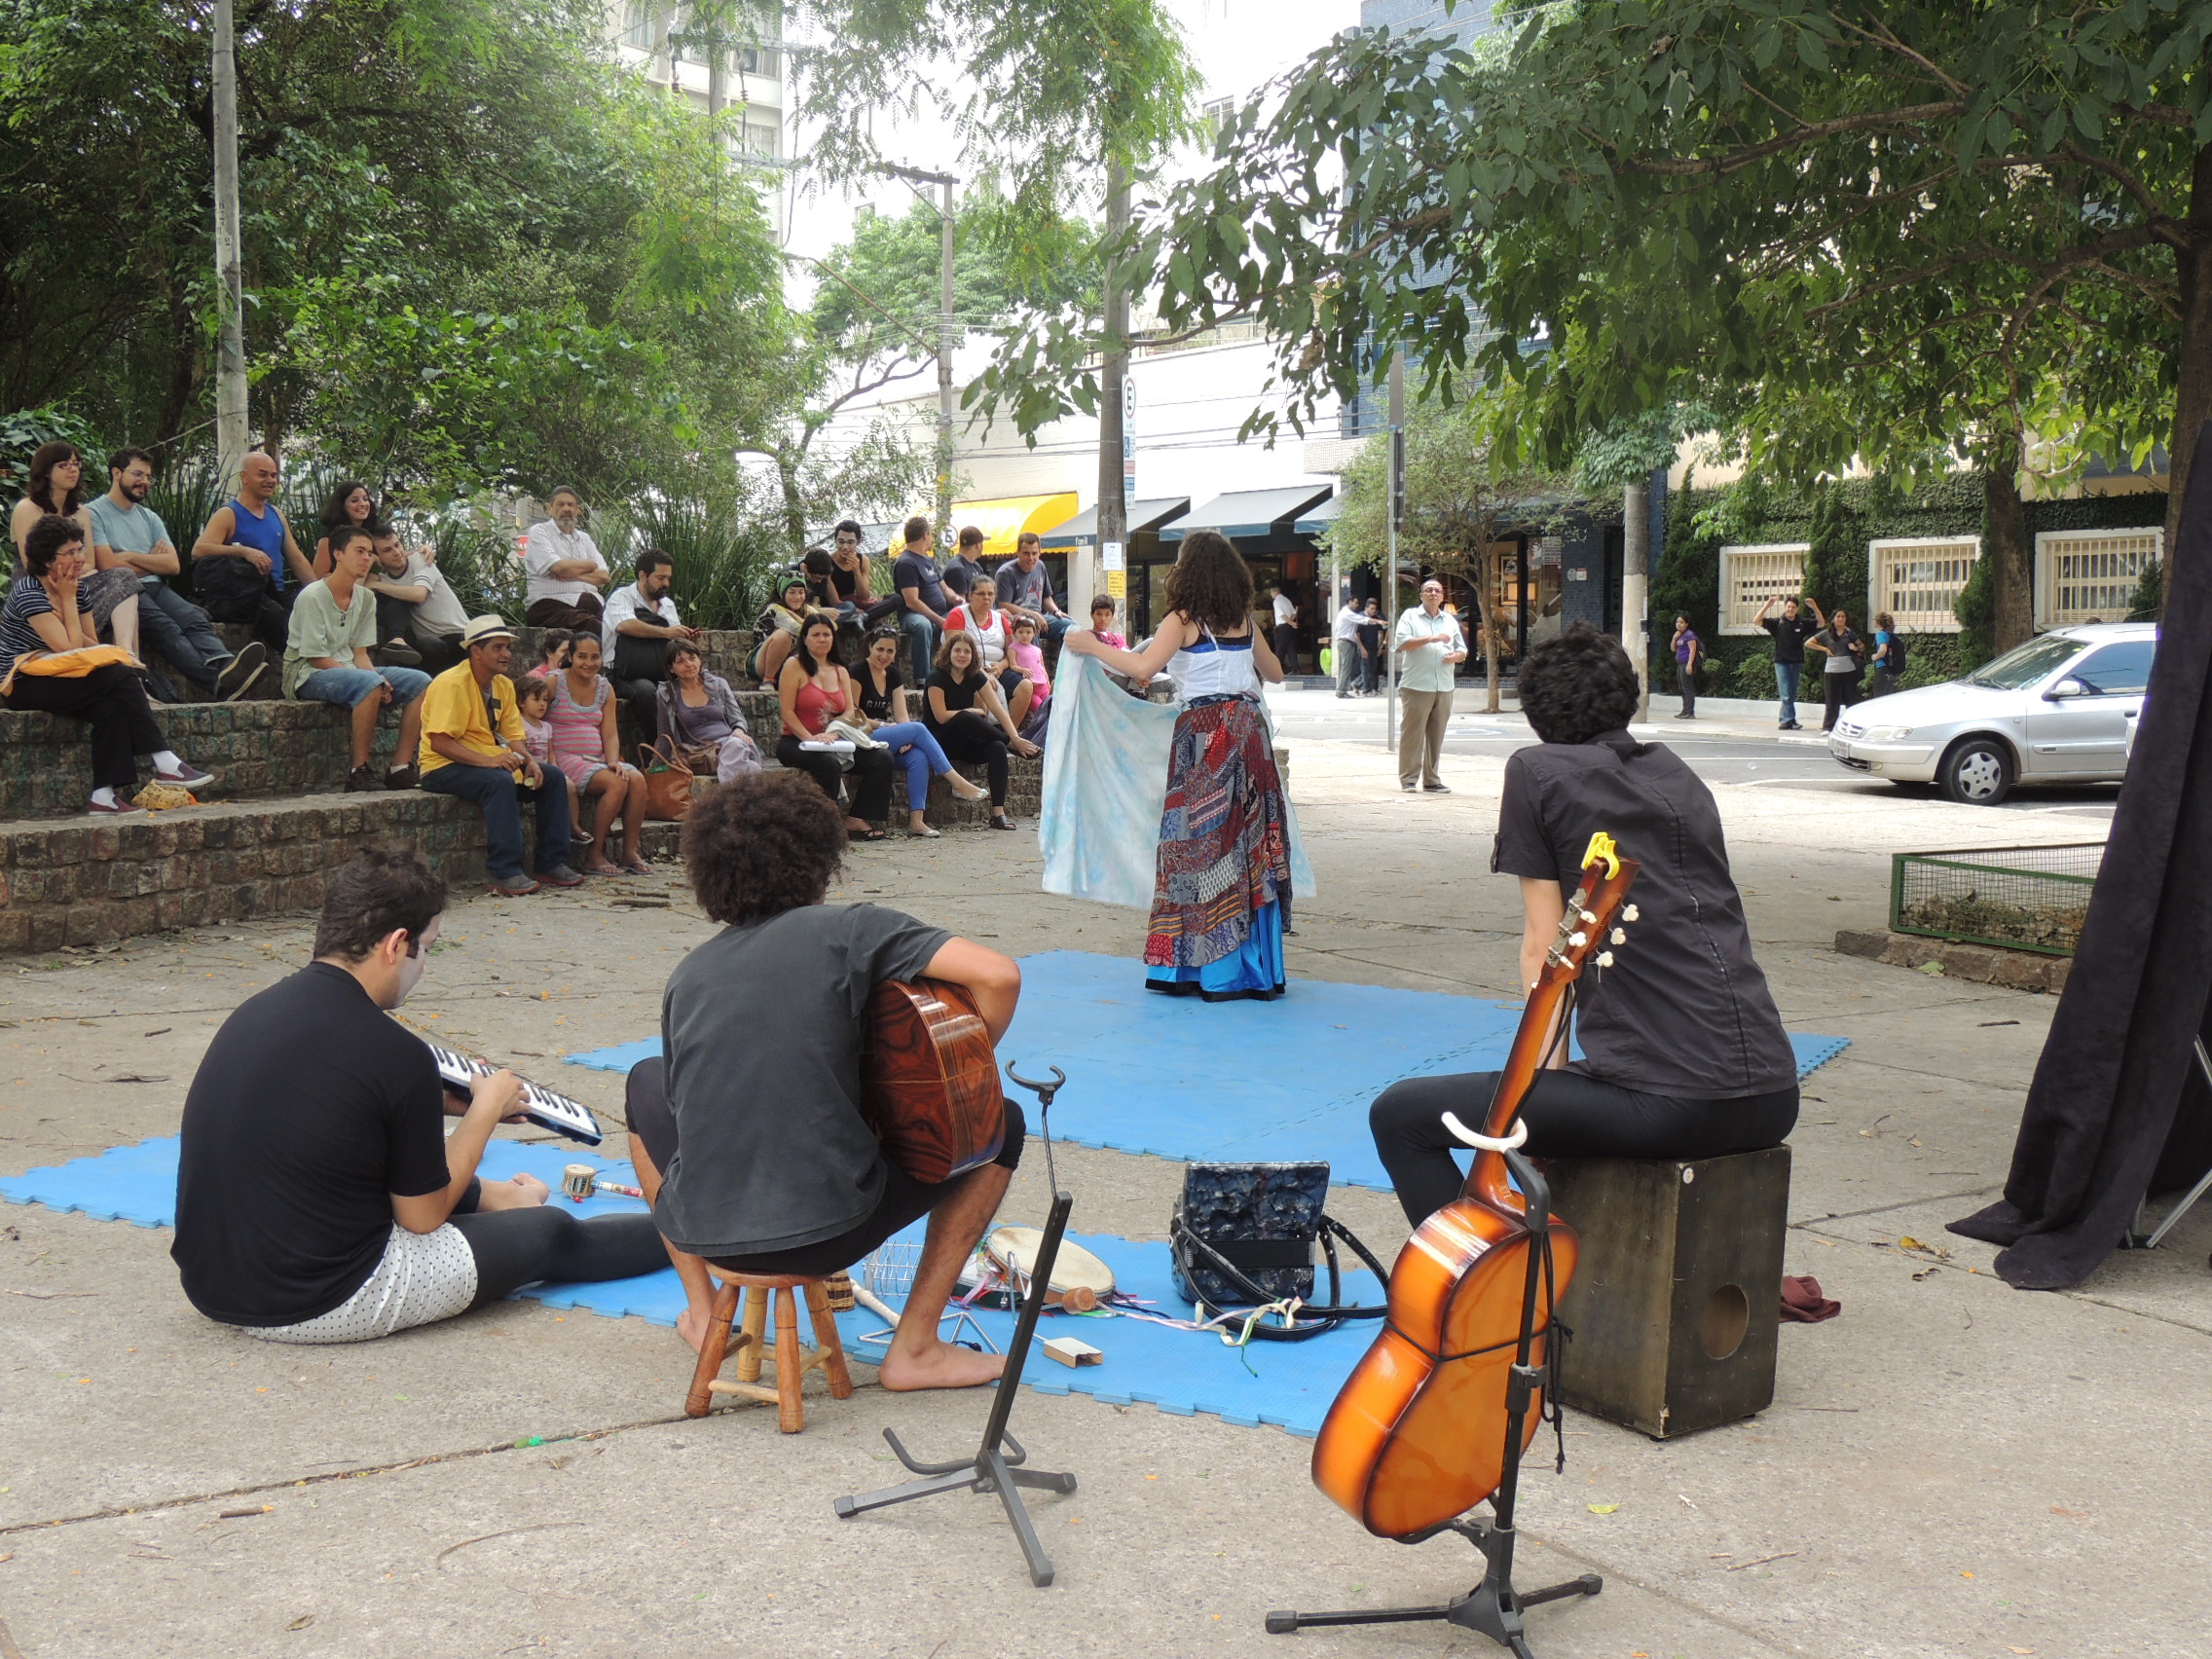
[(2150, 622), (2053, 628), (1964, 679), (1854, 706), (1827, 752), (1982, 807), (2015, 783), (2119, 783), (2157, 641)]

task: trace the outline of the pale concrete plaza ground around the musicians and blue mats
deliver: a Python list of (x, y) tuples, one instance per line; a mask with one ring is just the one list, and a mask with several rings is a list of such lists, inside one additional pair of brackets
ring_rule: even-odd
[[(1378, 750), (1298, 745), (1321, 891), (1298, 907), (1292, 973), (1511, 995), (1517, 894), (1475, 874), (1500, 770), (1447, 757), (1455, 794), (1402, 796)], [(2201, 1652), (2212, 1206), (2075, 1294), (1993, 1279), (1991, 1252), (1942, 1223), (2000, 1188), (2053, 1002), (1827, 949), (1880, 925), (1893, 845), (1986, 836), (1986, 816), (1719, 794), (1785, 1020), (1851, 1037), (1807, 1084), (1785, 1259), (1845, 1312), (1783, 1329), (1756, 1420), (1659, 1444), (1571, 1413), (1564, 1475), (1537, 1442), (1522, 1582), (1597, 1571), (1606, 1590), (1535, 1608), (1535, 1650)], [(1135, 975), (1141, 916), (1048, 898), (1037, 869), (1026, 836), (953, 832), (856, 847), (838, 898), (1013, 953), (1115, 951)], [(619, 1121), (619, 1079), (553, 1055), (650, 1033), (668, 969), (712, 931), (675, 880), (624, 891), (670, 902), (626, 909), (606, 887), (465, 900), (409, 1018)], [(299, 920), (0, 969), (0, 1168), (173, 1133), (217, 1022), (307, 940)], [(1077, 1228), (1164, 1237), (1179, 1166), (1062, 1150), (1060, 1172)], [(1405, 1237), (1383, 1194), (1332, 1208), (1378, 1250)], [(1042, 1210), (1033, 1157), (1006, 1214)], [(1367, 1537), (1310, 1484), (1303, 1440), (1024, 1391), (1015, 1433), (1082, 1480), (1033, 1502), (1060, 1584), (1031, 1590), (993, 1500), (856, 1522), (830, 1509), (896, 1478), (885, 1427), (929, 1458), (973, 1444), (982, 1396), (894, 1398), (860, 1367), (860, 1394), (810, 1398), (796, 1438), (765, 1409), (692, 1422), (672, 1332), (531, 1303), (361, 1347), (263, 1345), (184, 1305), (166, 1245), (0, 1206), (0, 1655), (1283, 1655), (1267, 1608), (1436, 1601), (1478, 1577), (1458, 1540)], [(1254, 1363), (1296, 1365), (1296, 1349)], [(1495, 1652), (1440, 1626), (1301, 1644)]]

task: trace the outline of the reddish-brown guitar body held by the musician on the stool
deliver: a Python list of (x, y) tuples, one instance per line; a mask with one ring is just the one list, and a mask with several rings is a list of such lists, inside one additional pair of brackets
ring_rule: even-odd
[(860, 1110), (883, 1152), (938, 1186), (998, 1157), (1006, 1097), (973, 998), (942, 980), (883, 980), (867, 1000)]

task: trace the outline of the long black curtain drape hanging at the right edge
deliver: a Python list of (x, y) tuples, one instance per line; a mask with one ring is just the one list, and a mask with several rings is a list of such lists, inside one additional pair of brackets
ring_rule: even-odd
[[(2166, 557), (2166, 622), (2081, 945), (2020, 1115), (2004, 1199), (1951, 1232), (2006, 1245), (2020, 1290), (2066, 1290), (2128, 1232), (2152, 1177), (2203, 1170), (2177, 1124), (2212, 993), (2212, 422)], [(2194, 1152), (2194, 1155), (2192, 1155)]]

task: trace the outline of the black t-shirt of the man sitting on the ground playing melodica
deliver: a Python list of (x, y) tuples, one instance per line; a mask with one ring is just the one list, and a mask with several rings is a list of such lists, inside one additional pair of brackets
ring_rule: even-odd
[(445, 1188), (445, 1086), (361, 982), (310, 962), (232, 1011), (184, 1099), (184, 1294), (223, 1325), (294, 1325), (352, 1296), (392, 1194)]

